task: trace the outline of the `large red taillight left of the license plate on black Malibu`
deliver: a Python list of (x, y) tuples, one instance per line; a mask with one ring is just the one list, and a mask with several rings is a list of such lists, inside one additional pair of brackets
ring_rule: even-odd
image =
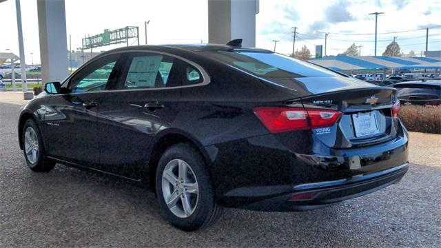
[(254, 113), (271, 133), (329, 127), (341, 116), (335, 110), (300, 107), (256, 107)]

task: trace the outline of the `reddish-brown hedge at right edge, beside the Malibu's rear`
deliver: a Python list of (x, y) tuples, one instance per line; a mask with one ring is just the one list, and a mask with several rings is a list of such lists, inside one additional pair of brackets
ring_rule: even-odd
[(401, 106), (399, 116), (409, 131), (441, 134), (441, 106)]

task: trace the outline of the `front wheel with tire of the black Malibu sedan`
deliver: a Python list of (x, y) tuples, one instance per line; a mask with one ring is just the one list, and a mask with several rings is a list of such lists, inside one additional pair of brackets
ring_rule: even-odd
[(46, 157), (43, 139), (37, 123), (28, 119), (21, 132), (23, 141), (23, 154), (28, 167), (34, 172), (49, 172), (54, 168), (55, 162)]

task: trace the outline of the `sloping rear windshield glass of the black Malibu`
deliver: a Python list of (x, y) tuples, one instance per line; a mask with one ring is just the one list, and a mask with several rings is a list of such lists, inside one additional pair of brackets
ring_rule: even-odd
[(342, 76), (318, 65), (276, 53), (220, 50), (212, 55), (219, 61), (263, 78)]

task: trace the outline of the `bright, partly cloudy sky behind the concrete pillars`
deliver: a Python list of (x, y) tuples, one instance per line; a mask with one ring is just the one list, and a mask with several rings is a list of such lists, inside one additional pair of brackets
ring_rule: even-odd
[[(57, 1), (57, 0), (52, 0)], [(243, 0), (247, 1), (247, 0)], [(207, 0), (65, 0), (66, 28), (72, 50), (81, 47), (81, 38), (125, 26), (139, 26), (145, 43), (144, 21), (149, 44), (207, 43)], [(397, 37), (401, 51), (417, 54), (425, 50), (425, 28), (429, 28), (429, 50), (441, 50), (441, 0), (260, 0), (256, 14), (256, 47), (292, 52), (292, 27), (297, 27), (296, 49), (303, 45), (311, 52), (325, 44), (327, 55), (336, 55), (352, 44), (362, 45), (363, 56), (373, 55), (375, 17), (378, 16), (377, 54)], [(19, 54), (15, 1), (0, 3), (2, 24), (0, 52)], [(37, 0), (21, 0), (26, 63), (39, 63)], [(413, 30), (410, 32), (400, 32)], [(393, 34), (384, 34), (396, 32)], [(130, 43), (136, 45), (136, 39)], [(96, 48), (96, 52), (121, 45)], [(32, 54), (31, 54), (32, 53)]]

